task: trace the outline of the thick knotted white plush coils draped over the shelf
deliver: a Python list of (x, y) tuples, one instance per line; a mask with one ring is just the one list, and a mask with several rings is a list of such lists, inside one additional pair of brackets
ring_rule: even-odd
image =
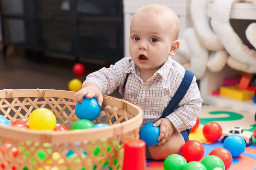
[[(221, 71), (227, 64), (247, 73), (256, 73), (256, 51), (243, 44), (230, 25), (233, 3), (254, 3), (256, 0), (213, 0), (211, 20), (207, 18), (207, 5), (212, 0), (192, 0), (190, 11), (193, 28), (187, 28), (177, 52), (179, 62), (192, 71), (197, 79), (204, 76), (206, 68)], [(256, 23), (246, 32), (247, 40), (256, 48)]]

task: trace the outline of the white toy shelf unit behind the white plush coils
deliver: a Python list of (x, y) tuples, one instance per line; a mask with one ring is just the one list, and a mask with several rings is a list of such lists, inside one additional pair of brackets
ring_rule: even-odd
[[(211, 6), (212, 3), (209, 3), (207, 8), (208, 17), (211, 17), (212, 15)], [(249, 42), (246, 39), (244, 32), (247, 26), (252, 22), (256, 22), (256, 7), (251, 3), (234, 3), (230, 13), (230, 24), (245, 45), (249, 45)], [(226, 65), (222, 71), (217, 73), (207, 70), (204, 77), (200, 80), (201, 96), (204, 99), (204, 103), (223, 106), (243, 112), (255, 113), (256, 103), (253, 102), (253, 99), (241, 99), (242, 97), (240, 99), (234, 99), (239, 97), (230, 97), (230, 91), (226, 92), (230, 93), (227, 95), (229, 97), (224, 95), (212, 95), (213, 91), (218, 91), (221, 87), (224, 87), (223, 82), (225, 79), (234, 79), (238, 74), (239, 71), (230, 68), (228, 65)], [(236, 86), (238, 84), (236, 84)], [(236, 92), (232, 95), (235, 94)], [(246, 91), (245, 94), (246, 95), (241, 96), (245, 96), (247, 98), (251, 98), (252, 95), (255, 96), (255, 92), (251, 91)]]

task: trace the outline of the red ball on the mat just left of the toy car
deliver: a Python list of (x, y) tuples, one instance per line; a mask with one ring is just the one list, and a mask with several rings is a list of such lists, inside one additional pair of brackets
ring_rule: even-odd
[(222, 128), (216, 122), (208, 122), (203, 127), (203, 135), (209, 142), (216, 142), (221, 138)]

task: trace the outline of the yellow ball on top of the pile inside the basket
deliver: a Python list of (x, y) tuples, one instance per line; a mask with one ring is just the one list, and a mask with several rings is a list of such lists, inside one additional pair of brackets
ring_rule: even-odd
[(34, 130), (54, 130), (55, 115), (47, 108), (38, 108), (32, 111), (28, 118), (29, 128)]

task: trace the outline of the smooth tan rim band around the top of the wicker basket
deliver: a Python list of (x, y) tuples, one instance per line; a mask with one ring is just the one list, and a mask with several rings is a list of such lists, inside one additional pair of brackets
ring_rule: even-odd
[[(8, 98), (15, 98), (15, 97), (39, 97), (41, 94), (38, 93), (38, 96), (21, 96), (22, 91), (33, 91), (38, 92), (38, 89), (24, 89), (24, 90), (12, 90), (12, 97)], [(54, 93), (64, 93), (69, 97), (72, 97), (76, 92), (73, 91), (65, 91), (65, 90), (47, 90), (47, 89), (39, 89), (47, 91), (48, 93), (45, 94), (54, 94)], [(6, 98), (8, 90), (0, 90), (0, 99)], [(4, 97), (3, 94), (5, 93)], [(63, 98), (65, 96), (63, 94), (59, 95)], [(44, 97), (47, 97), (45, 95)], [(55, 96), (48, 96), (48, 97), (55, 97)], [(57, 97), (57, 96), (56, 96)], [(84, 129), (84, 130), (67, 130), (67, 131), (52, 131), (52, 130), (26, 130), (26, 129), (19, 129), (14, 128), (12, 126), (5, 126), (0, 125), (0, 136), (6, 138), (8, 136), (9, 139), (20, 140), (21, 136), (22, 139), (26, 139), (26, 141), (32, 142), (41, 142), (41, 143), (64, 143), (64, 142), (82, 142), (82, 141), (92, 141), (92, 140), (99, 140), (104, 138), (111, 138), (113, 136), (122, 135), (122, 133), (128, 133), (132, 130), (136, 130), (138, 127), (136, 125), (142, 125), (143, 123), (143, 110), (128, 101), (123, 99), (118, 99), (112, 96), (103, 95), (103, 98), (111, 98), (115, 100), (115, 102), (122, 102), (126, 103), (127, 107), (135, 108), (138, 111), (138, 114), (134, 116), (132, 119), (129, 119), (125, 122), (121, 122), (119, 124), (114, 124), (104, 128), (93, 128), (93, 129)], [(103, 102), (104, 104), (104, 102)]]

